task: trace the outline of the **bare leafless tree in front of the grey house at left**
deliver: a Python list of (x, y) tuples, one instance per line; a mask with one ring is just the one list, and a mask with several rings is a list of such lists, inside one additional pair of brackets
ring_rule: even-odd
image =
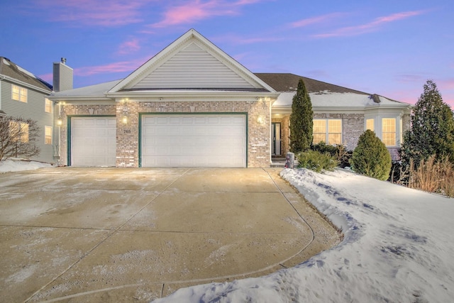
[(39, 155), (40, 148), (35, 145), (39, 133), (40, 128), (32, 119), (0, 117), (0, 161)]

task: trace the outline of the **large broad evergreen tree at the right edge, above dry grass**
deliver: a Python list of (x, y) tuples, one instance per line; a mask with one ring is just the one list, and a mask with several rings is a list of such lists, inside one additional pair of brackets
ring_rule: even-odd
[(415, 165), (436, 155), (437, 160), (448, 156), (454, 164), (454, 117), (443, 102), (436, 84), (428, 80), (424, 92), (411, 114), (411, 129), (404, 135), (401, 157), (405, 165), (410, 159)]

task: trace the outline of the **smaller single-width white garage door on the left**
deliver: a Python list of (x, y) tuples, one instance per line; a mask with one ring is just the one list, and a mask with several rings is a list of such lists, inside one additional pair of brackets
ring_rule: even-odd
[(72, 117), (71, 165), (116, 165), (116, 118)]

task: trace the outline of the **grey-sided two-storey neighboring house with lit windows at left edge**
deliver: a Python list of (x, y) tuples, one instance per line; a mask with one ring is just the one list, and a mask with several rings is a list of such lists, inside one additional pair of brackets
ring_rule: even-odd
[(51, 92), (50, 84), (6, 57), (0, 57), (0, 114), (32, 119), (40, 128), (37, 145), (41, 151), (32, 160), (55, 162), (57, 131), (54, 127), (54, 104), (48, 99)]

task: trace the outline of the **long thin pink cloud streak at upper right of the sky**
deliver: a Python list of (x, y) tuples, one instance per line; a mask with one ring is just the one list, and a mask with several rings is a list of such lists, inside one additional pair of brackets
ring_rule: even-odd
[(342, 37), (342, 36), (351, 36), (351, 35), (362, 35), (364, 33), (370, 33), (372, 31), (377, 31), (380, 26), (394, 22), (394, 21), (399, 21), (405, 18), (413, 17), (413, 16), (418, 16), (424, 13), (424, 11), (405, 11), (402, 13), (394, 13), (390, 16), (384, 16), (380, 18), (376, 18), (374, 21), (370, 23), (365, 23), (359, 26), (348, 26), (344, 28), (338, 28), (335, 31), (332, 31), (331, 33), (323, 33), (319, 35), (314, 35), (316, 38), (331, 38), (331, 37)]

